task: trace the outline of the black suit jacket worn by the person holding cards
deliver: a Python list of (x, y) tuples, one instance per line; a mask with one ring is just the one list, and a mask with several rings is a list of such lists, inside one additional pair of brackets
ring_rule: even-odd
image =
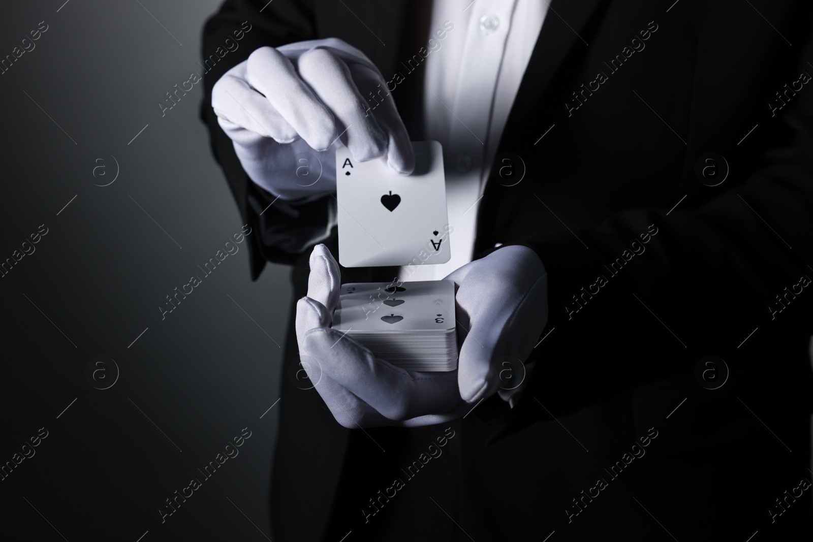
[[(208, 21), (204, 58), (253, 25), (205, 77), (202, 105), (241, 215), (265, 235), (251, 236), (252, 276), (266, 260), (293, 264), (304, 295), (310, 250), (298, 240), (333, 200), (278, 201), (259, 216), (274, 197), (217, 125), (212, 85), (259, 46), (322, 37), (358, 47), (389, 77), (414, 52), (410, 14), (402, 0), (227, 0)], [(519, 405), (493, 397), (463, 420), (451, 515), (474, 540), (663, 529), (746, 540), (809, 521), (811, 492), (781, 516), (769, 510), (810, 478), (811, 22), (813, 6), (797, 0), (551, 2), (498, 150), (497, 165), (509, 158), (524, 177), (501, 183), (495, 168), (476, 235), (476, 254), (496, 243), (537, 251), (550, 318)], [(411, 99), (392, 96), (399, 110)], [(342, 279), (391, 271), (342, 269)], [(295, 366), (293, 329), (288, 346)], [(274, 531), (320, 540), (338, 521), (351, 431), (289, 378), (282, 397)], [(650, 428), (646, 456), (627, 463)], [(619, 461), (624, 475), (613, 476)]]

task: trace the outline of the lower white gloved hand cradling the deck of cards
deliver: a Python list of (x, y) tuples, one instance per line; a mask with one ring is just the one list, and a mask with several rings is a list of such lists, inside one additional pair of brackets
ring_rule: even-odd
[(332, 329), (341, 276), (324, 245), (311, 253), (308, 293), (297, 303), (302, 367), (338, 423), (415, 427), (459, 418), (500, 388), (501, 361), (525, 360), (548, 316), (547, 274), (528, 247), (509, 245), (467, 263), (454, 280), (458, 369), (412, 372), (377, 359)]

